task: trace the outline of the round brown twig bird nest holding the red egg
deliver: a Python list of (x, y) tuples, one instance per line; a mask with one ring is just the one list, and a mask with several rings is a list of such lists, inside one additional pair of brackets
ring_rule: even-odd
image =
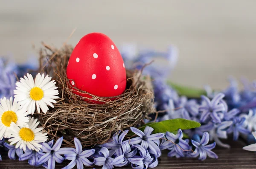
[[(40, 70), (52, 76), (60, 93), (54, 108), (46, 114), (35, 113), (41, 127), (48, 132), (49, 139), (64, 137), (63, 146), (73, 146), (74, 137), (79, 138), (83, 146), (94, 146), (106, 143), (111, 135), (118, 130), (136, 127), (154, 113), (153, 89), (151, 79), (142, 76), (138, 70), (127, 70), (127, 87), (118, 99), (92, 96), (92, 100), (103, 101), (105, 104), (85, 102), (70, 88), (66, 75), (67, 63), (73, 48), (65, 45), (60, 50), (48, 45), (40, 52)], [(85, 91), (79, 91), (84, 94)], [(89, 98), (86, 98), (89, 99)]]

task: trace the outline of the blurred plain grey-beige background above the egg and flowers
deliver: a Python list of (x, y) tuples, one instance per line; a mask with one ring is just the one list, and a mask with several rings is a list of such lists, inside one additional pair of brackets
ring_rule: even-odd
[[(256, 0), (0, 0), (0, 55), (25, 62), (41, 41), (76, 45), (90, 32), (121, 45), (179, 48), (172, 81), (227, 86), (227, 76), (256, 79)], [(32, 48), (35, 45), (35, 49)]]

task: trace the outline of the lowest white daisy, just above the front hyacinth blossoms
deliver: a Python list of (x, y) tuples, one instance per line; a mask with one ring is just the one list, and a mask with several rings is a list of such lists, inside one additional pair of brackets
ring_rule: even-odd
[(24, 151), (26, 151), (26, 147), (28, 147), (28, 149), (40, 151), (42, 145), (39, 143), (47, 141), (48, 136), (46, 136), (46, 132), (42, 132), (42, 127), (36, 128), (39, 124), (39, 121), (37, 122), (37, 120), (38, 119), (34, 120), (34, 117), (32, 117), (29, 120), (29, 126), (22, 128), (18, 127), (15, 123), (12, 123), (12, 138), (9, 139), (11, 142), (10, 144), (13, 145), (16, 143), (15, 148), (17, 149), (20, 147), (20, 149), (23, 149)]

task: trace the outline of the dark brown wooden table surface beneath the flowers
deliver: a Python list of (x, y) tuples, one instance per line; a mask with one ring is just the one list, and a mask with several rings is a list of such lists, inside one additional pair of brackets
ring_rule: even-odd
[[(242, 149), (246, 144), (243, 141), (230, 141), (231, 149), (222, 149), (216, 147), (214, 152), (219, 156), (218, 159), (207, 158), (205, 161), (199, 161), (195, 158), (169, 158), (167, 152), (159, 159), (159, 165), (156, 169), (195, 169), (195, 168), (208, 168), (208, 169), (245, 169), (256, 168), (256, 153), (244, 151)], [(1, 152), (3, 161), (0, 161), (0, 169), (44, 169), (44, 167), (29, 166), (27, 161), (13, 161), (7, 156), (7, 153)], [(67, 165), (67, 163), (58, 164), (56, 168), (60, 169)], [(88, 167), (100, 169), (101, 167)], [(122, 169), (128, 169), (123, 167)], [(129, 168), (130, 169), (130, 168)]]

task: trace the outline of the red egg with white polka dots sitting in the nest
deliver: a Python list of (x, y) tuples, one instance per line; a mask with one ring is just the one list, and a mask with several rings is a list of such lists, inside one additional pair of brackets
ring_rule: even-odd
[(67, 65), (67, 78), (71, 79), (71, 86), (99, 97), (118, 96), (126, 88), (122, 56), (114, 42), (102, 33), (87, 34), (78, 42)]

